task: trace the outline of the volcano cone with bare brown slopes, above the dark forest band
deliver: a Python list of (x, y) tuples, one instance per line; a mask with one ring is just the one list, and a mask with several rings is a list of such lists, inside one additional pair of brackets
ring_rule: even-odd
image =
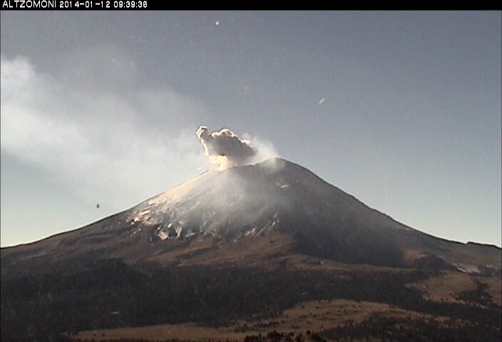
[(411, 269), (498, 274), (501, 249), (396, 222), (287, 160), (211, 170), (124, 212), (1, 249), (6, 279), (126, 264), (260, 264), (289, 254)]

